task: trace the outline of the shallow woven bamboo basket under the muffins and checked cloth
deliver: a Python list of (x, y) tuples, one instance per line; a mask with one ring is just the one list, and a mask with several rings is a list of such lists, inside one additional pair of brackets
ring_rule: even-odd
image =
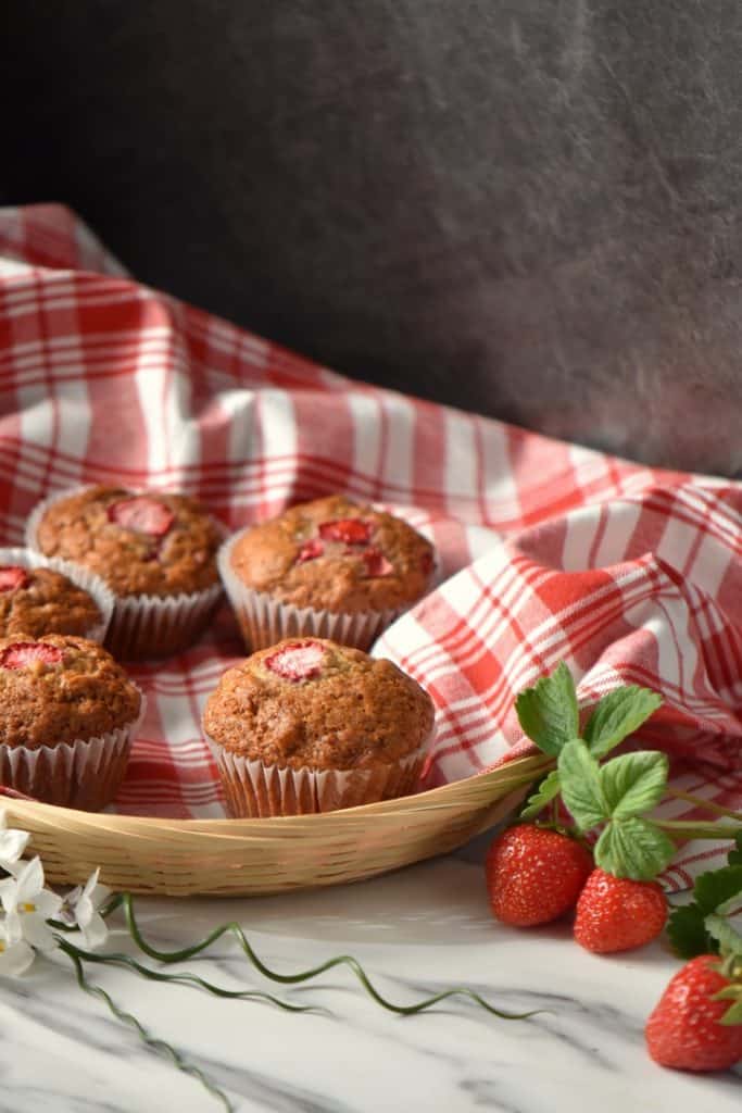
[(157, 819), (3, 798), (53, 884), (100, 866), (115, 892), (253, 896), (338, 885), (445, 854), (503, 819), (552, 762), (498, 769), (397, 800), (276, 819)]

